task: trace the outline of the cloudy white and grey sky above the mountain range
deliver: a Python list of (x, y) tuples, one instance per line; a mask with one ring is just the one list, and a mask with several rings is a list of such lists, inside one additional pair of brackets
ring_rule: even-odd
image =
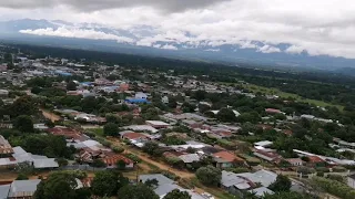
[[(130, 30), (136, 40), (80, 27), (23, 30), (22, 33), (111, 39), (176, 50), (156, 41), (236, 44), (263, 53), (284, 52), (355, 59), (353, 0), (1, 0), (0, 19), (47, 19)], [(139, 28), (150, 28), (144, 35)], [(262, 42), (262, 45), (253, 41)], [(287, 43), (281, 50), (277, 44)]]

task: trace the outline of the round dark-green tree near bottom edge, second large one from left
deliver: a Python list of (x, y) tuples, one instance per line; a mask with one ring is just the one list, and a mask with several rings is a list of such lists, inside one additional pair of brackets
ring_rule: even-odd
[(116, 191), (129, 184), (128, 178), (124, 178), (120, 172), (111, 170), (102, 170), (95, 174), (91, 184), (92, 192), (97, 196), (114, 196)]

